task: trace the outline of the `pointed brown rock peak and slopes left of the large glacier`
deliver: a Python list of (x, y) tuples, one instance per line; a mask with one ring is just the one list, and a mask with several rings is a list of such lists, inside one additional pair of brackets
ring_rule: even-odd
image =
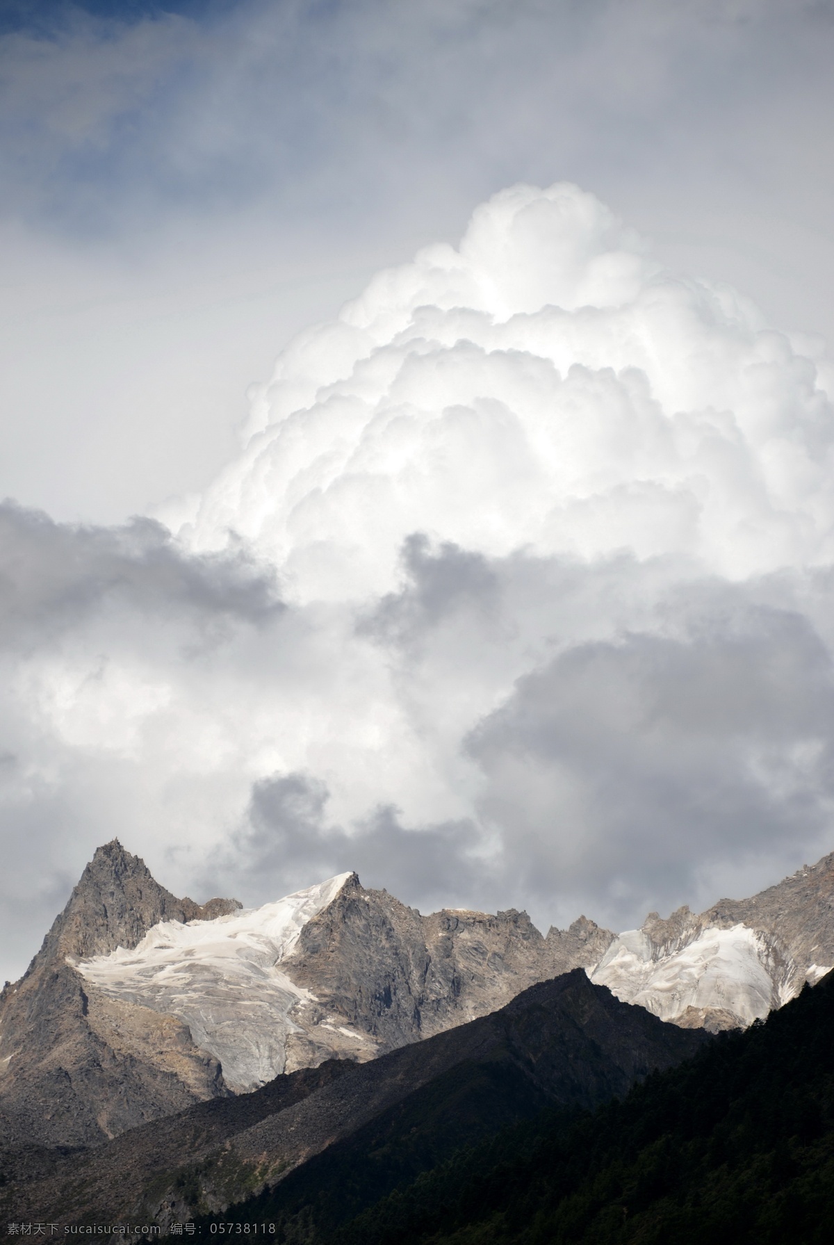
[(73, 965), (134, 946), (161, 919), (237, 908), (177, 899), (117, 840), (98, 848), (26, 974), (0, 996), (0, 1142), (97, 1143), (227, 1093), (185, 1025), (115, 1005)]

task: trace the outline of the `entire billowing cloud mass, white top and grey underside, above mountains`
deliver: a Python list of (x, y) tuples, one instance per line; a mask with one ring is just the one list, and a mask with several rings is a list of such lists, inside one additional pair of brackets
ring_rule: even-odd
[(61, 538), (15, 798), (128, 817), (174, 889), (356, 868), (545, 924), (830, 850), (827, 369), (594, 195), (502, 192), (289, 344), (171, 539)]

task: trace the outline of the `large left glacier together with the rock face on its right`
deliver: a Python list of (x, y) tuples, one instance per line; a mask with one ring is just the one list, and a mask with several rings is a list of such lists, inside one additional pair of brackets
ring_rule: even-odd
[(132, 949), (70, 962), (87, 987), (185, 1023), (240, 1093), (494, 1011), (534, 981), (591, 966), (612, 936), (580, 921), (544, 939), (515, 911), (422, 916), (345, 873), (251, 911), (162, 921)]

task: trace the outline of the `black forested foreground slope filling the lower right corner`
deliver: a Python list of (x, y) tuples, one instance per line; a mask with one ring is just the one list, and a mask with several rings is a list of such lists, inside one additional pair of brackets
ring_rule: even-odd
[[(834, 974), (622, 1102), (543, 1113), (329, 1245), (823, 1245), (834, 1238)], [(300, 1239), (300, 1238), (299, 1238)], [(315, 1236), (307, 1238), (315, 1240)]]

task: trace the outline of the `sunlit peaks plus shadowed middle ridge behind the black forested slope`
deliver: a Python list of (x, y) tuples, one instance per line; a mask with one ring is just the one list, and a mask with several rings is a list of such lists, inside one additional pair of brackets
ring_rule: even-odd
[(113, 840), (0, 996), (0, 1200), (166, 1225), (280, 1188), (290, 1223), (358, 1145), (360, 1213), (503, 1125), (621, 1097), (832, 962), (834, 855), (700, 915), (544, 936), (351, 873), (198, 905)]

